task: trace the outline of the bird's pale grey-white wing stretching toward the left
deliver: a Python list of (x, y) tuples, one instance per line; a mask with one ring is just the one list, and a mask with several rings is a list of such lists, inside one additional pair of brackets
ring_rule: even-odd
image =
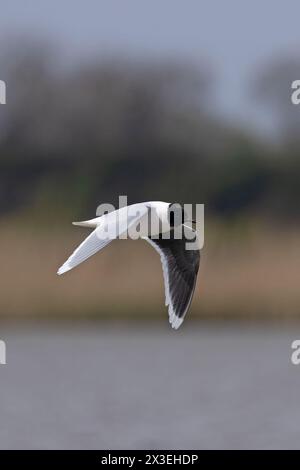
[[(134, 224), (147, 215), (145, 204), (135, 204), (99, 217), (96, 229), (76, 248), (67, 261), (59, 268), (57, 274), (64, 274), (85, 261), (110, 242), (126, 233)], [(94, 219), (97, 220), (97, 219)]]

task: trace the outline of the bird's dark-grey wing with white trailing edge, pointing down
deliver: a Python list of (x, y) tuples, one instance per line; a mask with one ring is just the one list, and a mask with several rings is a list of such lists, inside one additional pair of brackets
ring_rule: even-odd
[[(194, 235), (194, 241), (197, 234), (190, 230)], [(177, 329), (183, 322), (184, 316), (191, 304), (197, 274), (200, 264), (199, 249), (187, 250), (186, 243), (191, 242), (189, 238), (183, 236), (182, 239), (153, 239), (145, 237), (160, 254), (164, 284), (166, 305), (169, 306), (169, 321), (173, 328)]]

